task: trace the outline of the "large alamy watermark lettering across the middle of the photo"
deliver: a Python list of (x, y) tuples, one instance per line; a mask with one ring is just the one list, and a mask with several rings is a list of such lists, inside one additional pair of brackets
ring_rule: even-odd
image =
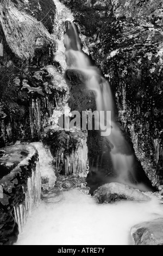
[[(55, 111), (57, 115), (59, 111)], [(111, 111), (72, 111), (68, 115), (58, 115), (59, 129), (78, 130), (101, 130), (102, 136), (109, 136), (111, 133)]]

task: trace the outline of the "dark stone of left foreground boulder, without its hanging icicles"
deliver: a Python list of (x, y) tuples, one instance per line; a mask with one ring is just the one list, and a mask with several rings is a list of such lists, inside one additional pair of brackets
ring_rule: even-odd
[(33, 146), (15, 145), (0, 151), (0, 245), (17, 241), (14, 207), (24, 203), (27, 181), (35, 171), (38, 154)]

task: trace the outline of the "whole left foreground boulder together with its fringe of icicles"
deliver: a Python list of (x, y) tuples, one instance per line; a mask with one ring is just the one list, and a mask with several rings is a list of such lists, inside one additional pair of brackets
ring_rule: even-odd
[(37, 150), (32, 145), (1, 148), (0, 166), (0, 245), (12, 245), (40, 201)]

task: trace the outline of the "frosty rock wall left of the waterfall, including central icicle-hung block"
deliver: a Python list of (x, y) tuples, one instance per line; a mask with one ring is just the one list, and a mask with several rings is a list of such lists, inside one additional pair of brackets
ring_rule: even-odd
[(2, 0), (0, 14), (0, 147), (42, 140), (55, 169), (86, 176), (87, 134), (58, 129), (58, 118), (70, 114), (64, 29), (71, 11), (58, 0)]

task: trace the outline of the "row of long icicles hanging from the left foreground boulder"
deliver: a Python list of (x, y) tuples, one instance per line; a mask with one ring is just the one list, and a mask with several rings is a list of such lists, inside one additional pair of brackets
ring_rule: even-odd
[(23, 204), (14, 207), (15, 220), (18, 224), (19, 232), (22, 233), (23, 227), (31, 215), (32, 210), (40, 204), (41, 200), (41, 175), (40, 164), (36, 163), (36, 170), (32, 170), (32, 176), (27, 181), (27, 191)]

